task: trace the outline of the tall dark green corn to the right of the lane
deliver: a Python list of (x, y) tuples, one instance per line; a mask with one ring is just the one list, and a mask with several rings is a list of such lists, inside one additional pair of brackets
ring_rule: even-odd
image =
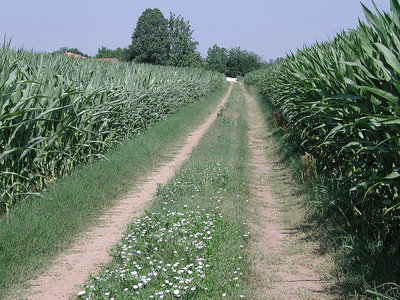
[(364, 10), (369, 26), (245, 80), (276, 109), (287, 145), (315, 158), (314, 203), (341, 235), (345, 268), (373, 285), (400, 282), (400, 5)]

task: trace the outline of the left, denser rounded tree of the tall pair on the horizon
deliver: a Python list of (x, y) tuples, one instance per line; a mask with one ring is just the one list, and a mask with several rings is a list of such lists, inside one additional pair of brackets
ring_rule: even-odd
[(137, 62), (164, 65), (168, 60), (168, 20), (158, 8), (147, 8), (139, 17), (130, 45)]

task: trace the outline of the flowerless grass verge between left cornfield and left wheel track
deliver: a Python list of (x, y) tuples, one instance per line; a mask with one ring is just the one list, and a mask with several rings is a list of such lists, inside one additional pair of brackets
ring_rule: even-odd
[(28, 197), (0, 217), (0, 295), (12, 294), (140, 180), (174, 154), (215, 110), (226, 88), (184, 107), (100, 160)]

